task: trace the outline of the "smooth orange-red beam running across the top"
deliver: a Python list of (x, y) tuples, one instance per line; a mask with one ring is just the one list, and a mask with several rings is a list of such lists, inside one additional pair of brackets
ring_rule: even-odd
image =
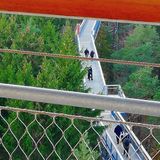
[(160, 0), (0, 0), (0, 10), (160, 22)]

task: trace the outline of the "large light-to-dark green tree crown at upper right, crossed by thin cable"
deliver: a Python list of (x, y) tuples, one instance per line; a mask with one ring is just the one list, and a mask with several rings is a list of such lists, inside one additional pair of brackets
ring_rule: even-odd
[[(123, 59), (140, 62), (154, 62), (158, 47), (158, 34), (155, 27), (137, 25), (125, 40), (125, 47), (112, 54), (114, 59)], [(157, 54), (156, 54), (157, 55)], [(126, 65), (113, 65), (114, 81), (124, 84), (129, 75), (137, 71), (139, 67)]]

